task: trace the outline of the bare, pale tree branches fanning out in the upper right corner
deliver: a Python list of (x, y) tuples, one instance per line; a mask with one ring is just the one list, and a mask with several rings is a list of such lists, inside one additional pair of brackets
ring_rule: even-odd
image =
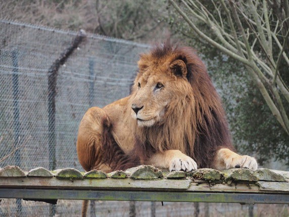
[[(284, 13), (278, 11), (278, 19), (276, 19), (276, 16), (273, 16), (274, 11), (270, 8), (268, 10), (266, 0), (261, 2), (221, 0), (221, 8), (218, 8), (213, 0), (211, 1), (215, 9), (214, 13), (210, 12), (199, 0), (181, 0), (182, 7), (179, 6), (181, 3), (177, 4), (176, 1), (169, 0), (178, 14), (200, 38), (245, 65), (272, 114), (289, 135), (289, 119), (280, 96), (282, 94), (288, 103), (289, 91), (278, 72), (282, 57), (289, 66), (289, 60), (285, 53), (288, 40), (288, 27), (285, 24), (287, 24), (288, 17), (283, 18)], [(288, 0), (285, 1), (287, 4)], [(268, 4), (277, 10), (276, 4)], [(286, 4), (285, 6), (281, 6), (281, 3), (278, 4), (280, 7), (284, 7), (285, 14), (289, 13)], [(224, 17), (224, 13), (220, 12), (221, 9), (224, 10), (226, 17)], [(188, 15), (197, 19), (199, 23), (206, 24), (217, 36), (217, 40), (205, 34), (203, 29), (197, 26), (197, 22), (193, 22)], [(229, 33), (225, 30), (224, 20), (229, 24)], [(271, 25), (270, 22), (273, 24)], [(284, 28), (286, 28), (285, 34), (283, 34)], [(276, 54), (276, 49), (279, 49), (277, 57), (273, 56), (273, 53)]]

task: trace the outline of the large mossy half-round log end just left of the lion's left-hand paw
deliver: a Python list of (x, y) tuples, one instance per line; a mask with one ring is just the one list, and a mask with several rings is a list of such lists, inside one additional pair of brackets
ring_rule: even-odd
[(140, 165), (126, 170), (131, 179), (151, 180), (163, 177), (163, 173), (158, 168), (151, 165)]

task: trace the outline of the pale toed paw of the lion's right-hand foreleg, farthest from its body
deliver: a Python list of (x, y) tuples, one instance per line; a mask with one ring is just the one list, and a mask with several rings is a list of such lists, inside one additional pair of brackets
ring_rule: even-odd
[(248, 168), (251, 170), (256, 170), (258, 168), (257, 161), (254, 157), (248, 155), (241, 155), (238, 157), (231, 158), (225, 162), (226, 168)]

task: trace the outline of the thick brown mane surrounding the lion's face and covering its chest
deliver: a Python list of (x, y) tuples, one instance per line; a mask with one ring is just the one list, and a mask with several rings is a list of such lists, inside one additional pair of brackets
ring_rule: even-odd
[(183, 86), (183, 92), (168, 105), (164, 123), (135, 127), (134, 151), (146, 158), (155, 151), (178, 149), (195, 159), (198, 167), (211, 167), (216, 150), (233, 150), (221, 100), (205, 65), (190, 48), (173, 47), (166, 41), (151, 53), (141, 55), (139, 68), (164, 59), (182, 60), (190, 85)]

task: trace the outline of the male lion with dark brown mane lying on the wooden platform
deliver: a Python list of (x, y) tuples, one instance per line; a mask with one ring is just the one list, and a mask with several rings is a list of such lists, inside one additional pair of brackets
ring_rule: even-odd
[(140, 55), (138, 68), (128, 97), (84, 114), (77, 154), (86, 171), (257, 169), (255, 158), (232, 151), (220, 98), (194, 50), (166, 41)]

